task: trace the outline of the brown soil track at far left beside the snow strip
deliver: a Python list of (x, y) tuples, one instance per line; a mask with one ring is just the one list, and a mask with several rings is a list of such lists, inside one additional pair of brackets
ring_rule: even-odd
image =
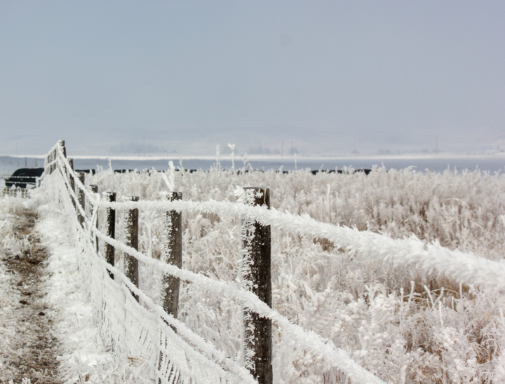
[[(46, 250), (40, 244), (39, 236), (34, 233), (36, 214), (30, 210), (18, 211), (15, 222), (15, 235), (29, 240), (23, 254), (3, 259), (8, 273), (12, 273), (12, 291), (18, 290), (20, 305), (13, 309), (16, 337), (11, 341), (10, 361), (4, 362), (9, 367), (8, 379), (0, 377), (0, 383), (22, 383), (22, 378), (29, 378), (32, 384), (61, 383), (58, 380), (58, 341), (53, 336), (52, 320), (45, 305), (46, 290), (44, 274), (47, 260)], [(5, 257), (5, 256), (4, 256)], [(0, 375), (3, 376), (3, 375)]]

